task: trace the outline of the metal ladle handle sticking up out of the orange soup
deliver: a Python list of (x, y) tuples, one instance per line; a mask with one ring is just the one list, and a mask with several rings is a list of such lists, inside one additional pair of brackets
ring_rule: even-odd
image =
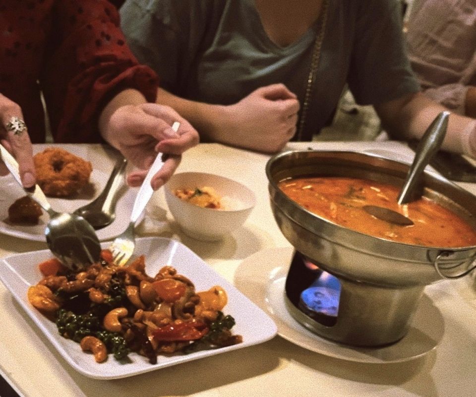
[(407, 179), (397, 198), (399, 204), (405, 204), (411, 200), (415, 185), (418, 183), (418, 176), (428, 165), (433, 154), (440, 149), (446, 135), (449, 115), (450, 112), (443, 111), (436, 116), (421, 138)]

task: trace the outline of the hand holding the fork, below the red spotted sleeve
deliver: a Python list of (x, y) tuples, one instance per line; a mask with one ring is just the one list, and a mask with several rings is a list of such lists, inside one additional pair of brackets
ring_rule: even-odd
[[(172, 130), (179, 121), (179, 130)], [(160, 171), (151, 180), (159, 189), (179, 166), (181, 154), (198, 144), (198, 132), (169, 106), (156, 103), (120, 106), (109, 118), (103, 137), (139, 170), (127, 176), (130, 186), (139, 186), (157, 153), (167, 155)]]

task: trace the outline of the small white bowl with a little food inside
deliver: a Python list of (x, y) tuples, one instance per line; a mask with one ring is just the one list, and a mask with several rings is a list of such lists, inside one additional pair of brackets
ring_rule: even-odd
[[(215, 189), (223, 209), (203, 208), (179, 199), (177, 189), (205, 186)], [(197, 240), (219, 241), (241, 226), (256, 203), (254, 193), (246, 186), (223, 176), (204, 172), (174, 174), (165, 185), (165, 198), (170, 212), (183, 232)]]

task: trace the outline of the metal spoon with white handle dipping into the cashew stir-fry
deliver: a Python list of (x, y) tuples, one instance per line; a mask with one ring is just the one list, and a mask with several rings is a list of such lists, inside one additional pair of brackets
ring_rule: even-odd
[[(2, 145), (0, 155), (13, 178), (23, 188), (15, 158)], [(54, 211), (38, 185), (23, 190), (48, 212), (50, 221), (45, 228), (46, 242), (62, 264), (79, 271), (99, 260), (101, 245), (98, 236), (83, 217)]]

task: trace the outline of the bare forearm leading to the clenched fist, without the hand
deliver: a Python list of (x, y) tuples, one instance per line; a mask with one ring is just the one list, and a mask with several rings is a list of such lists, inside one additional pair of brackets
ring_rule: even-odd
[(227, 142), (221, 131), (226, 123), (226, 106), (180, 98), (159, 88), (156, 102), (174, 108), (195, 127), (203, 142)]

